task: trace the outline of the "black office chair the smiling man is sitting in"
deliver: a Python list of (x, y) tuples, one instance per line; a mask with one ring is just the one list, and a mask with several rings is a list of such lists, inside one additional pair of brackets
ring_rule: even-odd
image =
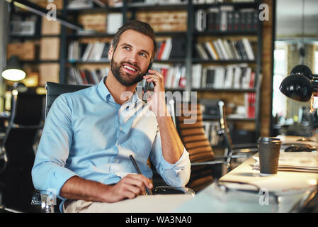
[[(47, 95), (45, 99), (45, 117), (50, 111), (50, 107), (53, 102), (60, 94), (66, 92), (76, 92), (80, 89), (85, 89), (90, 87), (89, 85), (72, 85), (72, 84), (57, 84), (54, 82), (47, 82), (45, 89), (47, 90)], [(153, 189), (154, 194), (195, 194), (192, 189), (187, 187), (169, 187), (167, 185), (162, 185), (155, 187)], [(31, 204), (35, 206), (40, 206), (40, 211), (42, 213), (54, 213), (55, 212), (55, 197), (52, 194), (41, 193), (38, 190), (33, 190), (33, 196), (31, 199)], [(59, 201), (60, 202), (60, 201)]]

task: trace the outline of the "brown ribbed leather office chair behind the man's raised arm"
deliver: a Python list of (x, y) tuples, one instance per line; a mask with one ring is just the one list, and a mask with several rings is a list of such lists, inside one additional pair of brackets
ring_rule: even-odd
[[(225, 175), (226, 163), (223, 158), (218, 160), (215, 157), (210, 141), (205, 134), (200, 104), (174, 101), (176, 102), (176, 128), (183, 145), (188, 150), (191, 161), (191, 177), (186, 187), (199, 192), (215, 179)], [(191, 118), (195, 121), (190, 122)]]

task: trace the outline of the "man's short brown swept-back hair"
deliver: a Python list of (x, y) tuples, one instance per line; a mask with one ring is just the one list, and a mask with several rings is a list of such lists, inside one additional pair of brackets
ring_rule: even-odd
[(129, 29), (132, 29), (134, 31), (137, 31), (139, 33), (142, 33), (152, 38), (152, 41), (154, 43), (154, 51), (152, 52), (152, 56), (150, 60), (152, 62), (157, 52), (157, 42), (156, 42), (156, 37), (154, 35), (154, 30), (149, 25), (149, 23), (146, 23), (146, 22), (137, 21), (137, 20), (127, 21), (123, 26), (118, 28), (118, 31), (117, 33), (115, 33), (115, 36), (111, 42), (111, 45), (113, 45), (114, 51), (116, 50), (117, 45), (119, 43), (120, 35), (122, 35), (125, 31)]

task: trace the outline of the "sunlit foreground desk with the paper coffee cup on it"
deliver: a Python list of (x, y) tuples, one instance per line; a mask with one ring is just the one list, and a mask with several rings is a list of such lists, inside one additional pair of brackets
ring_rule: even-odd
[[(317, 153), (311, 154), (317, 157)], [(220, 187), (220, 183), (210, 184), (174, 211), (200, 213), (297, 211), (297, 203), (317, 188), (317, 172), (278, 170), (277, 175), (263, 177), (259, 175), (259, 170), (254, 170), (255, 162), (254, 157), (251, 157), (220, 178), (220, 182), (245, 184), (226, 183), (225, 185), (229, 185), (227, 190)], [(246, 192), (247, 189), (252, 192)]]

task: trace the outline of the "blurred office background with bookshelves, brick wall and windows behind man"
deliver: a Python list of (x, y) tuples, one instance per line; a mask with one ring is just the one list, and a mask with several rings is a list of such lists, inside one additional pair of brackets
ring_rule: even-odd
[[(0, 206), (34, 211), (30, 167), (45, 83), (97, 84), (108, 73), (115, 31), (130, 19), (154, 28), (153, 69), (164, 74), (166, 91), (196, 92), (213, 157), (232, 149), (220, 133), (219, 101), (236, 148), (260, 136), (313, 135), (317, 111), (279, 86), (295, 65), (318, 73), (317, 10), (315, 0), (0, 0)], [(9, 69), (25, 77), (3, 73)]]

